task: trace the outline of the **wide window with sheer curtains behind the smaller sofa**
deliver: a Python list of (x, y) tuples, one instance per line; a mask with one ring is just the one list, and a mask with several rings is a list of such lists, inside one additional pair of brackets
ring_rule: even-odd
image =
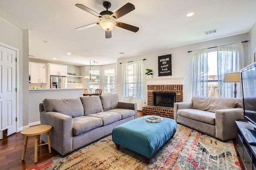
[[(233, 83), (224, 83), (226, 73), (237, 73), (242, 66), (242, 43), (223, 45), (216, 51), (192, 52), (192, 96), (233, 97)], [(240, 84), (238, 84), (240, 89)], [(241, 97), (241, 91), (238, 91)]]

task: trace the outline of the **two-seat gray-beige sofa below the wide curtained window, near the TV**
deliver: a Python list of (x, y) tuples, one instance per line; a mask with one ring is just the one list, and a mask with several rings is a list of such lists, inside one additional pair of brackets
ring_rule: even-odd
[(236, 138), (237, 119), (244, 119), (242, 99), (193, 96), (174, 103), (174, 120), (220, 140)]

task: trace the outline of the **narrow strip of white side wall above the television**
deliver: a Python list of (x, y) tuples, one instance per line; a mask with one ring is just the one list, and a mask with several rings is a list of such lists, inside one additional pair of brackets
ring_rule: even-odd
[(254, 61), (254, 53), (256, 53), (256, 22), (249, 32), (249, 64)]

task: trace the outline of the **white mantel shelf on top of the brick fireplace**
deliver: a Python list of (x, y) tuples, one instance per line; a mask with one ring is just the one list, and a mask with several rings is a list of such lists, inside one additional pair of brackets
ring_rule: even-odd
[(147, 79), (147, 85), (184, 85), (186, 77), (164, 77)]

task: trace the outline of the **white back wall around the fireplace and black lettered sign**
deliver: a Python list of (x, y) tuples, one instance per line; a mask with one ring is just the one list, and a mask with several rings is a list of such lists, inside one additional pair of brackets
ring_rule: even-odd
[[(210, 35), (209, 35), (210, 36)], [(235, 36), (230, 36), (226, 38), (219, 38), (216, 40), (210, 40), (206, 42), (194, 43), (189, 45), (184, 45), (181, 47), (175, 47), (170, 49), (165, 49), (161, 51), (156, 51), (153, 53), (147, 53), (142, 55), (136, 55), (133, 57), (120, 58), (117, 60), (117, 84), (120, 84), (120, 87), (117, 87), (117, 93), (121, 96), (122, 88), (122, 64), (127, 61), (134, 61), (139, 59), (146, 59), (143, 61), (144, 66), (143, 70), (146, 72), (146, 68), (152, 69), (154, 75), (152, 78), (158, 78), (158, 56), (172, 54), (172, 77), (186, 77), (184, 80), (184, 101), (191, 100), (191, 70), (192, 70), (192, 56), (191, 53), (187, 51), (192, 51), (196, 49), (214, 47), (218, 45), (225, 45), (229, 43), (236, 43), (248, 40), (248, 33), (239, 34)], [(248, 56), (248, 43), (242, 43), (244, 47), (244, 56)], [(170, 76), (167, 76), (170, 77)], [(163, 78), (161, 76), (161, 78)], [(147, 105), (147, 83), (146, 75), (144, 76), (144, 99), (145, 105)]]

